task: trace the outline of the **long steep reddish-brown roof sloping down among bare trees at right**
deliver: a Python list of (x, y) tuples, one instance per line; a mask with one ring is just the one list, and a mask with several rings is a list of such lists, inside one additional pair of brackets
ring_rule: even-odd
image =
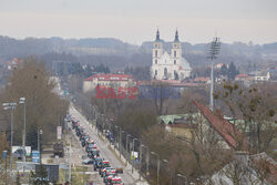
[(227, 120), (223, 119), (222, 116), (216, 115), (213, 111), (208, 107), (199, 104), (196, 101), (193, 101), (197, 109), (202, 112), (205, 119), (209, 122), (212, 127), (224, 138), (224, 141), (235, 150), (242, 150), (239, 147), (239, 141), (243, 143), (243, 147), (246, 145), (245, 137), (243, 134), (234, 127)]

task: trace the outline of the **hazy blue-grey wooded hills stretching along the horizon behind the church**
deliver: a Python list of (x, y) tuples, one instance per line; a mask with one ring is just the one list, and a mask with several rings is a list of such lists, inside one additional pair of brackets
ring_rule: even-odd
[[(164, 41), (163, 41), (164, 42)], [(171, 42), (164, 42), (165, 50), (171, 49)], [(153, 42), (143, 42), (142, 45), (125, 43), (113, 38), (27, 38), (18, 40), (0, 35), (0, 62), (12, 58), (24, 58), (30, 54), (39, 55), (47, 62), (80, 62), (85, 64), (100, 64), (111, 69), (122, 70), (125, 66), (151, 65)], [(183, 53), (193, 68), (208, 65), (209, 43), (191, 44), (182, 42)], [(268, 44), (253, 43), (222, 43), (216, 62), (236, 65), (264, 64), (264, 61), (277, 61), (277, 42)]]

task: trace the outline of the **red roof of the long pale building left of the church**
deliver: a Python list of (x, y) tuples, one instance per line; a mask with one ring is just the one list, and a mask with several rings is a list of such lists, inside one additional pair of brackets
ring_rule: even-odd
[(93, 79), (98, 79), (99, 81), (127, 81), (130, 79), (135, 80), (132, 75), (129, 74), (94, 74), (88, 79), (85, 79), (85, 81), (92, 81)]

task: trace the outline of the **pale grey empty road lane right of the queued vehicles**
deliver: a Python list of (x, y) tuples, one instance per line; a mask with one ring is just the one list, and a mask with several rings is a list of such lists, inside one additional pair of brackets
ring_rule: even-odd
[[(80, 121), (81, 126), (85, 129), (85, 132), (91, 136), (91, 138), (96, 143), (98, 148), (100, 150), (100, 156), (110, 161), (113, 167), (122, 167), (124, 173), (120, 174), (124, 185), (135, 185), (135, 179), (132, 177), (124, 164), (115, 156), (115, 154), (109, 150), (109, 144), (102, 141), (94, 129), (92, 129), (88, 120), (73, 106), (70, 105), (69, 113)], [(81, 158), (80, 158), (81, 161)]]

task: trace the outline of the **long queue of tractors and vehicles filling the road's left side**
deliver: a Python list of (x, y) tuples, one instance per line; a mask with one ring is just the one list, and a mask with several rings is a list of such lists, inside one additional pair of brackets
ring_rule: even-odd
[(70, 122), (72, 131), (75, 131), (76, 137), (80, 140), (88, 155), (88, 158), (83, 160), (82, 163), (84, 165), (93, 165), (93, 169), (99, 172), (105, 185), (124, 185), (119, 176), (119, 174), (123, 173), (123, 168), (112, 167), (109, 161), (101, 157), (96, 143), (85, 133), (85, 130), (81, 126), (79, 121), (75, 121), (75, 119), (71, 116)]

